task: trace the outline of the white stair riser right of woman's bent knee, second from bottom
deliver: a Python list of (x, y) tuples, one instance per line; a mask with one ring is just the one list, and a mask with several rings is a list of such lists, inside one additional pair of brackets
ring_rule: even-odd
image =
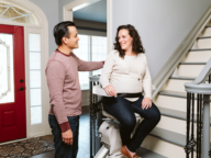
[[(160, 122), (157, 124), (156, 127), (186, 135), (187, 122), (184, 120), (163, 115)], [(196, 128), (197, 123), (195, 123), (195, 136), (197, 136)]]

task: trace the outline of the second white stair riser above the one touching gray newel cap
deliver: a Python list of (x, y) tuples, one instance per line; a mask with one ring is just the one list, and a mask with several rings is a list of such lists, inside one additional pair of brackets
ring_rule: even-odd
[(189, 52), (181, 63), (207, 63), (211, 58), (211, 50)]

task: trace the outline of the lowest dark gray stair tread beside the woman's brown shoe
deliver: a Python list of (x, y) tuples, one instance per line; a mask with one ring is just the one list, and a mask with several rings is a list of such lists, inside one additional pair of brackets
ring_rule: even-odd
[(154, 153), (152, 150), (148, 150), (146, 148), (143, 148), (143, 147), (140, 147), (137, 150), (136, 150), (136, 154), (142, 157), (142, 158), (167, 158), (163, 155), (159, 155), (157, 153)]

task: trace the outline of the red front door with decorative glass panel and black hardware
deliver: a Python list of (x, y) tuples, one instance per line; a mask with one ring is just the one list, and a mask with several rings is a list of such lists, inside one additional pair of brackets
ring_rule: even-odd
[(24, 29), (0, 25), (0, 143), (26, 137)]

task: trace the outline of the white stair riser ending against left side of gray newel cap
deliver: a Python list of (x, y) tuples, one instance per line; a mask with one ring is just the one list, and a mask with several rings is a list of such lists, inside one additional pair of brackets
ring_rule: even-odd
[(169, 91), (178, 91), (178, 92), (186, 92), (185, 91), (185, 83), (192, 82), (192, 80), (178, 80), (178, 79), (169, 79), (162, 90), (169, 90)]

